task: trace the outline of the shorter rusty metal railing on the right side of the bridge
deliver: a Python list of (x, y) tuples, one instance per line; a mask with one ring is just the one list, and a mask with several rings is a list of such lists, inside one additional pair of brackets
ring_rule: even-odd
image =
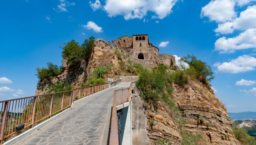
[(131, 89), (132, 83), (130, 84), (129, 88), (114, 90), (109, 145), (119, 145), (117, 105), (121, 105), (130, 101)]

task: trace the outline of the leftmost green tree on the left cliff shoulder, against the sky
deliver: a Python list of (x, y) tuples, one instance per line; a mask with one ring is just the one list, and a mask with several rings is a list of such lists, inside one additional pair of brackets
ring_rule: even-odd
[(61, 74), (61, 72), (63, 71), (61, 67), (58, 67), (57, 65), (53, 65), (52, 62), (48, 62), (47, 63), (47, 68), (36, 68), (37, 74), (35, 74), (40, 81), (44, 80), (44, 79), (50, 79), (54, 76), (57, 76), (59, 74)]

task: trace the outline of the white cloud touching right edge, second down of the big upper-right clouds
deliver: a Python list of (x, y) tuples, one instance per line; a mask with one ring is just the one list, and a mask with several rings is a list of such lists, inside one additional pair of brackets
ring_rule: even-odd
[(256, 5), (249, 6), (245, 11), (240, 13), (238, 18), (231, 22), (226, 22), (218, 25), (215, 32), (221, 34), (233, 33), (234, 30), (246, 30), (256, 28)]

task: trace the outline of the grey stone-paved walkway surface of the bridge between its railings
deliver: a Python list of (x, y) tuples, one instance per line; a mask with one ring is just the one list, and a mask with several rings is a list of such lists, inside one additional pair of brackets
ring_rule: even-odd
[(106, 145), (108, 140), (113, 91), (127, 88), (122, 83), (77, 100), (70, 111), (21, 139), (16, 145)]

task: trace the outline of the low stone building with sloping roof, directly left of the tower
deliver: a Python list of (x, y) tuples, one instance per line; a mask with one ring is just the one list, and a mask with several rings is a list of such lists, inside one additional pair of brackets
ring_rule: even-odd
[(113, 47), (132, 47), (132, 37), (123, 36), (112, 41)]

